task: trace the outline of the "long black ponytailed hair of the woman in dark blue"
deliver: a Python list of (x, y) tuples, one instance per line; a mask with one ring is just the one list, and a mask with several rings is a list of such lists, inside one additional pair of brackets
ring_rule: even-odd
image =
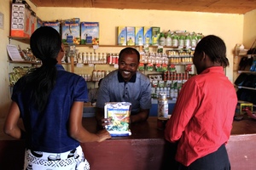
[(32, 54), (41, 59), (43, 65), (26, 74), (22, 79), (23, 87), (32, 91), (30, 101), (42, 112), (48, 103), (50, 91), (55, 87), (55, 65), (61, 50), (61, 36), (54, 28), (42, 26), (32, 33), (30, 46)]

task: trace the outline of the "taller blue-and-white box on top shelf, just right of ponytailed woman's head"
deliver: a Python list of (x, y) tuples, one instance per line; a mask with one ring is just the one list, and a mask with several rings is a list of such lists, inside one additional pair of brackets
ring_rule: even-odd
[(80, 19), (64, 20), (61, 24), (61, 39), (63, 44), (80, 44)]

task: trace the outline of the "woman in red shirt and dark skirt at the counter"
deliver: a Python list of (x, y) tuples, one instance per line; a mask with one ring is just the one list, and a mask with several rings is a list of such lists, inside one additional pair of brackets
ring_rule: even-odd
[(230, 64), (224, 41), (214, 35), (203, 37), (195, 47), (193, 63), (198, 75), (183, 84), (166, 123), (165, 138), (177, 144), (179, 170), (230, 169), (225, 144), (230, 138), (237, 97), (224, 75), (224, 68)]

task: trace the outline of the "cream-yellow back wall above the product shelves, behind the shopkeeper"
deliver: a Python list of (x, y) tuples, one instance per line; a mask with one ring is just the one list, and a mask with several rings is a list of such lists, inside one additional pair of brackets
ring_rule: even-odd
[[(116, 44), (117, 26), (160, 26), (161, 31), (195, 31), (204, 35), (215, 34), (224, 39), (230, 67), (227, 77), (233, 81), (233, 48), (242, 42), (242, 14), (212, 14), (161, 10), (102, 9), (102, 8), (37, 8), (42, 20), (66, 20), (74, 17), (81, 21), (100, 22), (100, 44)], [(86, 49), (79, 50), (84, 51)], [(120, 48), (104, 48), (118, 53)], [(109, 51), (111, 50), (111, 51)]]

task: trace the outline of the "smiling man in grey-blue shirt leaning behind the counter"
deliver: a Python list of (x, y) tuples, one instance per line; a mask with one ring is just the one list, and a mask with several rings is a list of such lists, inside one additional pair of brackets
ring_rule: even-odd
[(140, 54), (135, 48), (124, 48), (119, 53), (119, 69), (104, 77), (97, 93), (96, 121), (108, 125), (104, 119), (106, 102), (130, 102), (131, 123), (148, 119), (151, 108), (151, 84), (143, 73), (137, 71)]

